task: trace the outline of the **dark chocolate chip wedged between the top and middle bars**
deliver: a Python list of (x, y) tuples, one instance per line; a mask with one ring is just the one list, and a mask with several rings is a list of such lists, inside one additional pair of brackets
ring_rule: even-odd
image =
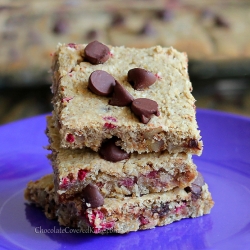
[(130, 157), (130, 155), (121, 149), (121, 147), (115, 145), (116, 141), (116, 138), (111, 138), (102, 143), (99, 150), (101, 158), (106, 161), (118, 162)]

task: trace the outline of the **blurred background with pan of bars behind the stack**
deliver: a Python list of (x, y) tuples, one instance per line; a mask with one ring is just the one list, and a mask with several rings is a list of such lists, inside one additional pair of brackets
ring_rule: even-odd
[(0, 124), (52, 110), (57, 44), (173, 46), (197, 107), (250, 116), (250, 0), (0, 0)]

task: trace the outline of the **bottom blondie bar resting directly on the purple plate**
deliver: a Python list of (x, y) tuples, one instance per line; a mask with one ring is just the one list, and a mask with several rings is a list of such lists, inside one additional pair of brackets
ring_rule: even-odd
[(47, 218), (57, 219), (62, 226), (79, 228), (84, 232), (122, 234), (210, 213), (214, 202), (207, 184), (195, 186), (195, 189), (192, 186), (175, 188), (141, 197), (105, 198), (104, 205), (90, 208), (80, 196), (58, 203), (53, 175), (47, 175), (29, 182), (25, 198), (42, 207)]

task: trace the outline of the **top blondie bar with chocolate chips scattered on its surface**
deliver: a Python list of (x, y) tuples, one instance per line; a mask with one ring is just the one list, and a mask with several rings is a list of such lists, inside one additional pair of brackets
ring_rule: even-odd
[(61, 147), (98, 151), (103, 141), (116, 137), (128, 153), (200, 155), (187, 61), (171, 47), (59, 44), (52, 92)]

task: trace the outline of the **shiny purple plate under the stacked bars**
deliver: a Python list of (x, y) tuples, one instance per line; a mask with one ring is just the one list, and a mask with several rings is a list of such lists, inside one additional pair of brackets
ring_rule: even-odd
[(0, 127), (1, 249), (250, 249), (250, 119), (198, 110), (204, 152), (194, 157), (213, 195), (210, 215), (125, 235), (51, 233), (56, 221), (27, 205), (30, 180), (50, 173), (45, 116)]

